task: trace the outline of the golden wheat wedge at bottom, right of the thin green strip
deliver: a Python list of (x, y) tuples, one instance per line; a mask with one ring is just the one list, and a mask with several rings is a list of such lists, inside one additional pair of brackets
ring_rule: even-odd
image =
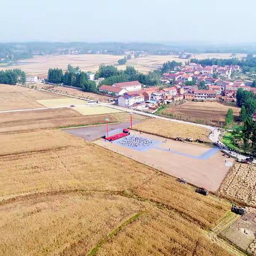
[(196, 225), (166, 209), (152, 209), (141, 215), (104, 244), (97, 255), (138, 255), (138, 252), (158, 256), (231, 255), (203, 236)]

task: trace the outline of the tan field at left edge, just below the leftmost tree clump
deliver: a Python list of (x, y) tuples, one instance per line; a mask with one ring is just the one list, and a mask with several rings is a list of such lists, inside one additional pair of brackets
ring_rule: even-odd
[(42, 108), (43, 105), (36, 100), (59, 98), (63, 96), (16, 85), (0, 84), (0, 111)]

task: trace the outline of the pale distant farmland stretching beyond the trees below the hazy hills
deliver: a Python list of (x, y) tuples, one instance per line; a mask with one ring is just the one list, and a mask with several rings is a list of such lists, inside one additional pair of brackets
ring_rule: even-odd
[[(246, 54), (237, 54), (237, 58), (242, 58)], [(47, 76), (49, 68), (62, 68), (66, 70), (68, 64), (79, 66), (83, 71), (95, 72), (99, 69), (99, 65), (117, 65), (117, 61), (122, 59), (123, 55), (109, 55), (109, 54), (81, 54), (81, 55), (47, 55), (36, 56), (31, 59), (23, 60), (19, 65), (8, 67), (0, 67), (0, 69), (20, 68), (27, 75)], [(209, 53), (209, 54), (195, 54), (192, 56), (197, 59), (204, 58), (231, 58), (230, 53)], [(185, 63), (188, 59), (179, 59), (178, 55), (146, 55), (145, 57), (127, 60), (126, 65), (117, 66), (118, 69), (125, 69), (126, 66), (134, 66), (135, 69), (143, 73), (161, 68), (166, 61), (179, 61)]]

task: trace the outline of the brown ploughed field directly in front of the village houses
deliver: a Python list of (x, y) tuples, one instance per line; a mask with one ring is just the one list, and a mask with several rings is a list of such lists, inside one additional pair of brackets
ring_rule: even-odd
[(240, 108), (229, 103), (207, 101), (187, 101), (181, 105), (166, 108), (161, 114), (185, 121), (223, 125), (229, 108), (233, 109), (234, 117), (237, 119)]

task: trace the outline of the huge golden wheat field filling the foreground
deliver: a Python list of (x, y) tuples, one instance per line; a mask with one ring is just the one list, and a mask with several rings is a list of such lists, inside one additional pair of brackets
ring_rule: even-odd
[(222, 199), (62, 131), (0, 140), (0, 254), (231, 255)]

